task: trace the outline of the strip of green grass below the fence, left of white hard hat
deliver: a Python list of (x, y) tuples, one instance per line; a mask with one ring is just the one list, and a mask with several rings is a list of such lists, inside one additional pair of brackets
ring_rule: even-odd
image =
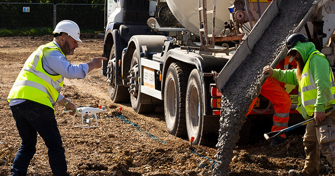
[(8, 37), (8, 36), (43, 36), (43, 35), (51, 35), (53, 29), (52, 28), (25, 28), (19, 30), (8, 30), (8, 29), (0, 29), (0, 37)]

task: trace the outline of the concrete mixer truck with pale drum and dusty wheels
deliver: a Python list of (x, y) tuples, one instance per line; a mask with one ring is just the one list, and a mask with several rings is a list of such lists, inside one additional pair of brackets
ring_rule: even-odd
[[(219, 90), (225, 85), (218, 89), (215, 80), (222, 68), (229, 69), (236, 48), (270, 3), (106, 0), (103, 56), (108, 60), (101, 72), (111, 101), (130, 102), (137, 113), (152, 113), (163, 104), (168, 133), (215, 145)], [(260, 96), (255, 108), (268, 104)]]

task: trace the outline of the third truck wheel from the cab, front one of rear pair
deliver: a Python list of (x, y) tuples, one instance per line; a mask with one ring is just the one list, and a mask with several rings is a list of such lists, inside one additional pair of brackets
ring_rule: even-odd
[(171, 63), (166, 73), (164, 115), (167, 131), (176, 137), (186, 137), (185, 98), (189, 76), (185, 63)]

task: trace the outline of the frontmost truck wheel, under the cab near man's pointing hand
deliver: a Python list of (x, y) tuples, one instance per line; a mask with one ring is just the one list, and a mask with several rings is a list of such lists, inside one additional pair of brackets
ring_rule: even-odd
[(116, 85), (116, 59), (115, 46), (111, 47), (110, 56), (107, 65), (107, 83), (109, 97), (114, 103), (127, 103), (130, 100), (127, 87)]

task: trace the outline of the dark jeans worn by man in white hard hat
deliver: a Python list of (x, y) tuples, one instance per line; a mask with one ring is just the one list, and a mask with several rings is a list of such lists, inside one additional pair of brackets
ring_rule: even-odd
[(11, 175), (26, 175), (30, 160), (36, 152), (37, 132), (48, 147), (49, 163), (55, 176), (69, 175), (65, 161), (65, 149), (57, 128), (54, 110), (48, 106), (27, 100), (10, 107), (22, 139)]

